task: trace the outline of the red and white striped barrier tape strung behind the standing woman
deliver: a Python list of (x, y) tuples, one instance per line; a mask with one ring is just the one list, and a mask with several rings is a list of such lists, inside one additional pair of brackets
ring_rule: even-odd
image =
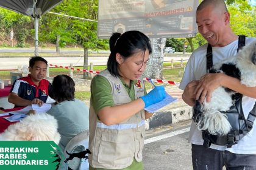
[[(74, 68), (71, 68), (71, 67), (68, 67), (68, 66), (63, 67), (63, 66), (57, 66), (57, 65), (53, 65), (53, 64), (49, 64), (49, 66), (63, 68), (63, 69), (69, 69), (69, 70), (77, 70), (77, 71), (80, 71), (80, 72), (88, 72), (88, 73), (96, 73), (96, 74), (99, 73), (99, 71), (86, 70), (86, 69), (74, 69)], [(153, 82), (156, 82), (156, 83), (172, 84), (172, 85), (179, 84), (179, 82), (176, 82), (176, 81), (158, 80), (158, 79), (152, 79), (152, 78), (143, 78), (143, 80), (144, 81), (153, 81)]]

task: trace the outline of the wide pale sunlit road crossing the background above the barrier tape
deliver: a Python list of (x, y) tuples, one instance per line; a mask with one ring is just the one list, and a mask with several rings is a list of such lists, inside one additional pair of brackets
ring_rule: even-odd
[[(174, 61), (180, 60), (188, 60), (189, 56), (165, 56), (164, 61)], [(94, 65), (106, 65), (108, 57), (89, 57), (88, 63), (93, 63)], [(49, 64), (54, 64), (58, 66), (69, 66), (70, 63), (73, 63), (74, 66), (83, 66), (84, 65), (84, 58), (83, 57), (46, 57), (46, 60)], [(1, 57), (0, 62), (0, 70), (2, 69), (17, 69), (17, 67), (28, 65), (29, 64), (29, 57), (22, 57), (22, 58), (4, 58)]]

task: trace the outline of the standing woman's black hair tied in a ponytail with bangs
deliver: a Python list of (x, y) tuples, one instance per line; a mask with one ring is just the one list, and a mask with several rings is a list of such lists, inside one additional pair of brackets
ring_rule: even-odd
[[(123, 56), (124, 60), (137, 52), (143, 52), (148, 49), (149, 54), (152, 53), (151, 41), (148, 36), (139, 31), (127, 31), (123, 34), (113, 33), (109, 39), (110, 55), (107, 61), (107, 69), (111, 75), (117, 77), (118, 63), (116, 61), (116, 53)], [(142, 66), (141, 66), (142, 67)]]

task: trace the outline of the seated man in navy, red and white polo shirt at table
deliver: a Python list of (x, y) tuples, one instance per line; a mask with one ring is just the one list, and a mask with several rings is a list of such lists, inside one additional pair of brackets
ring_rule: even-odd
[[(27, 77), (20, 78), (13, 83), (8, 97), (15, 107), (31, 104), (46, 103), (52, 94), (52, 85), (43, 79), (47, 71), (47, 61), (41, 56), (31, 57), (29, 60), (29, 72)], [(50, 98), (51, 99), (51, 98)]]

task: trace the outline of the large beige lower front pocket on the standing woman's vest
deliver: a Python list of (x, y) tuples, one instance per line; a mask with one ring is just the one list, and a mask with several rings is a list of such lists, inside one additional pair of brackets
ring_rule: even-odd
[(129, 134), (102, 133), (99, 144), (99, 163), (108, 165), (127, 165), (132, 161), (132, 137)]

